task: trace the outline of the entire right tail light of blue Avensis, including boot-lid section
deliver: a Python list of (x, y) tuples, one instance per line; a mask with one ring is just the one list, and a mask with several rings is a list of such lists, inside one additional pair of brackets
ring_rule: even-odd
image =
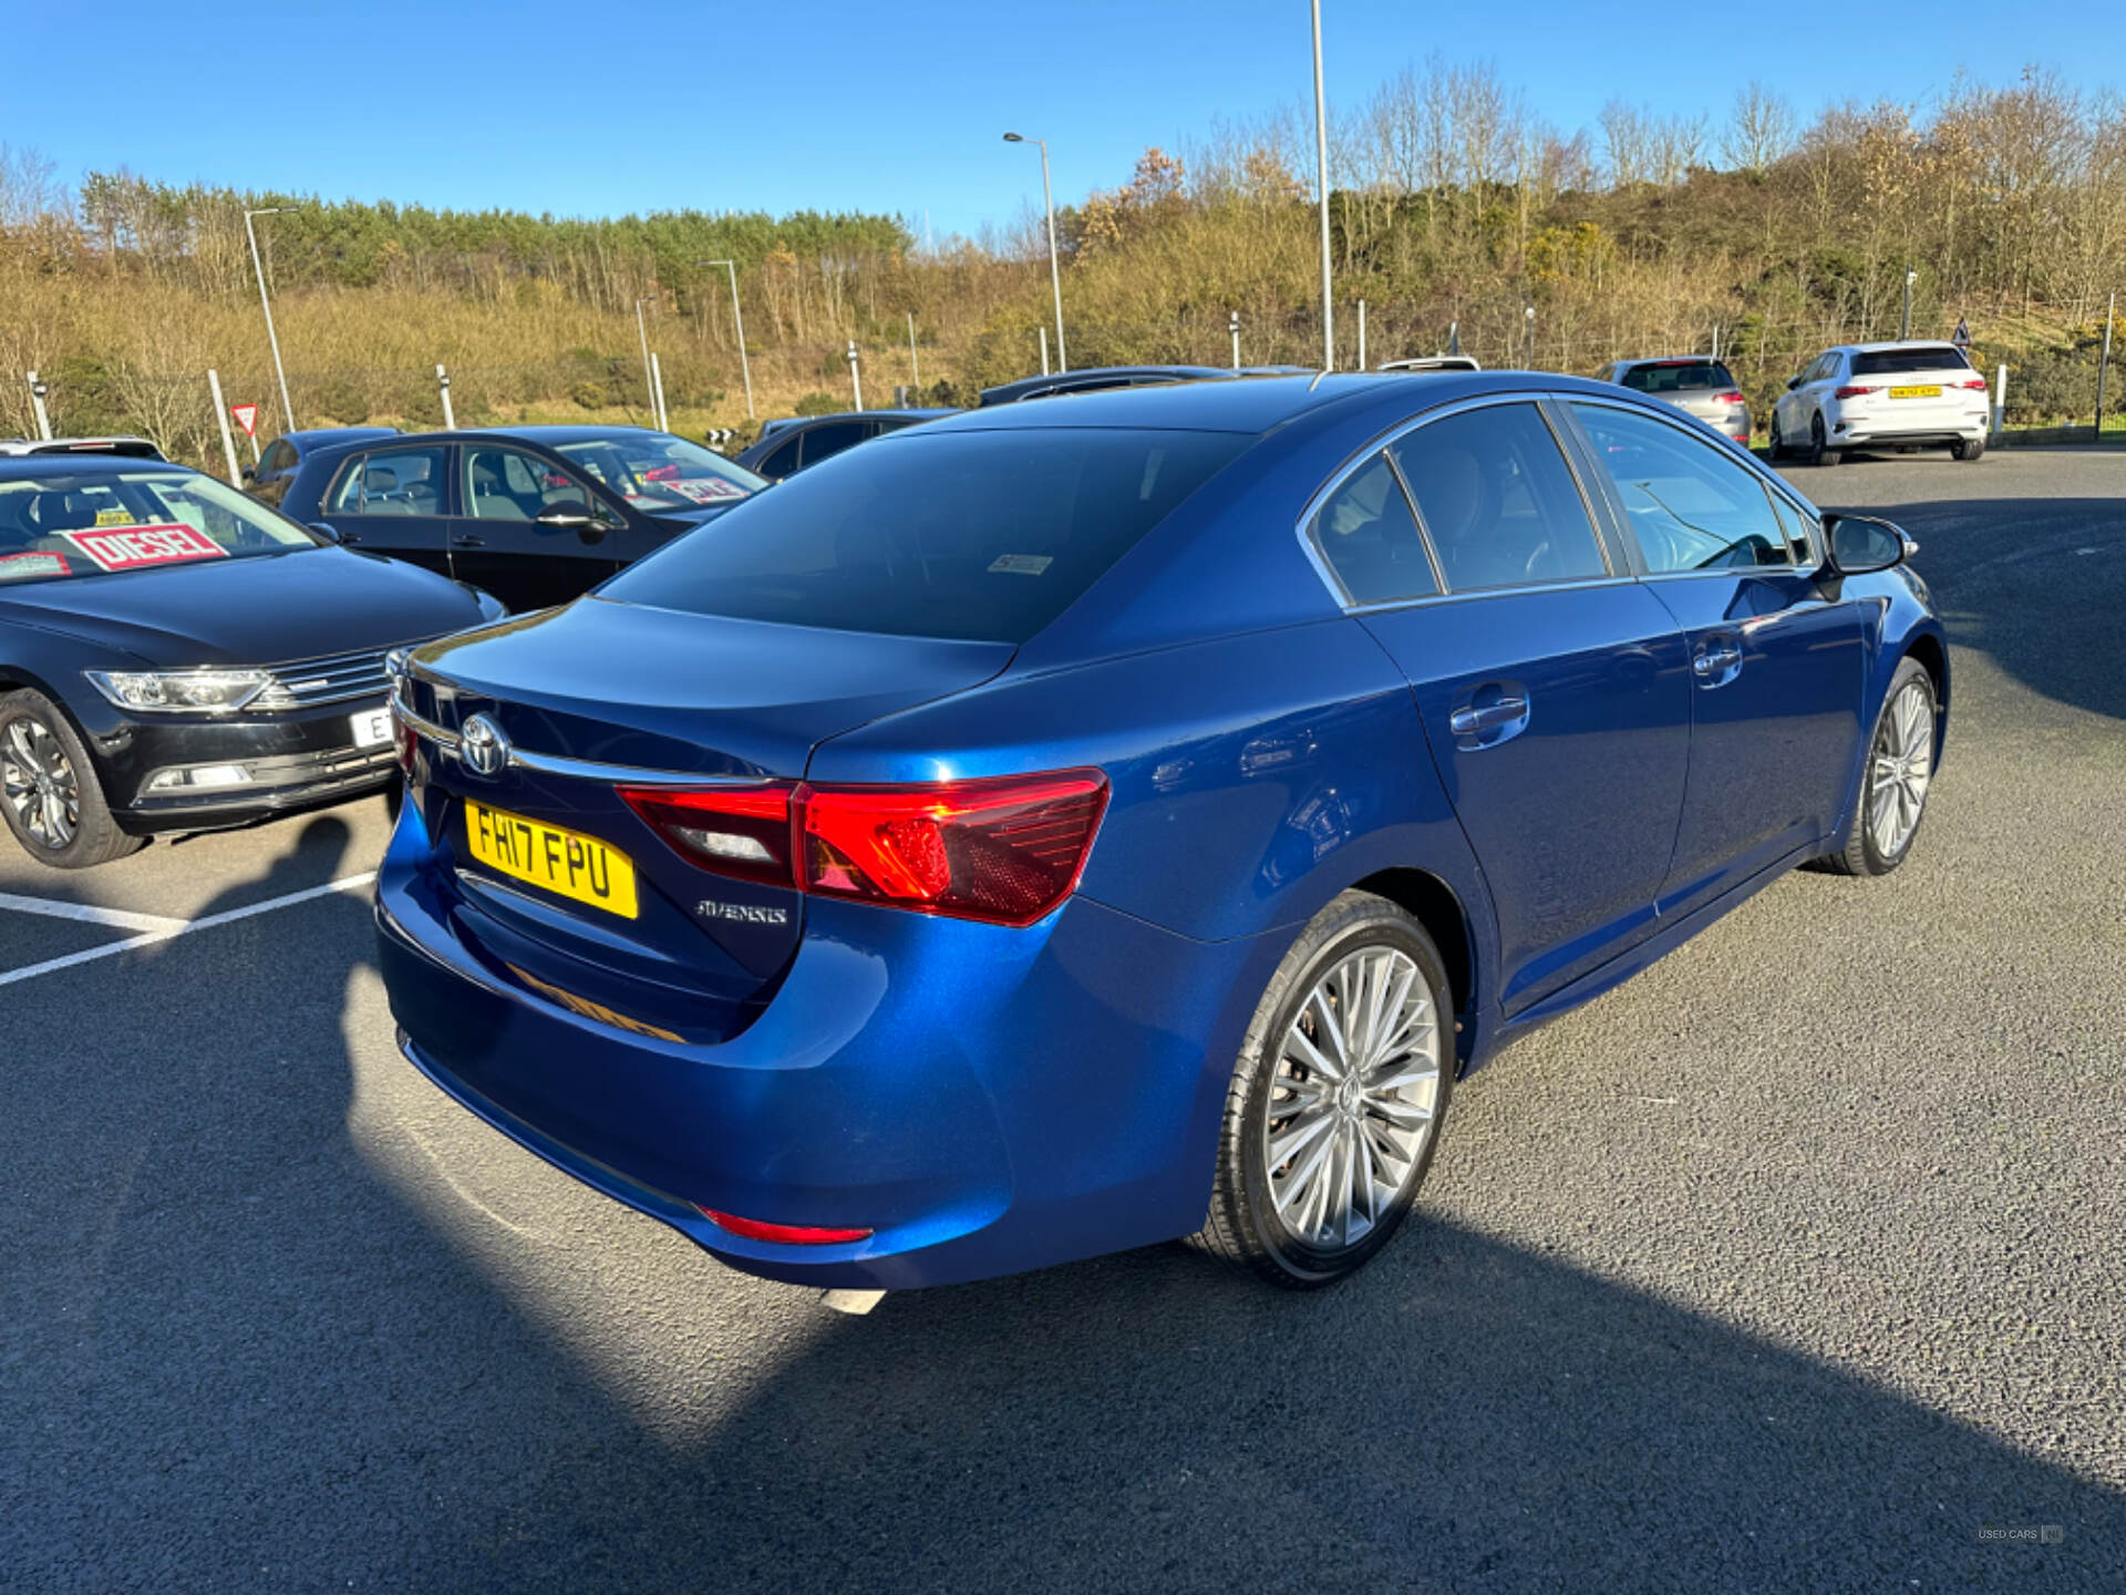
[(621, 797), (712, 874), (1031, 925), (1078, 889), (1108, 778), (1063, 770), (904, 787), (627, 787)]

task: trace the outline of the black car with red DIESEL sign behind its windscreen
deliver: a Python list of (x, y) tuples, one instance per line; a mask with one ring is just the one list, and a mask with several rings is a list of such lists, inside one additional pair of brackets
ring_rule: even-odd
[(183, 466), (0, 459), (0, 819), (79, 870), (376, 791), (385, 655), (502, 615)]

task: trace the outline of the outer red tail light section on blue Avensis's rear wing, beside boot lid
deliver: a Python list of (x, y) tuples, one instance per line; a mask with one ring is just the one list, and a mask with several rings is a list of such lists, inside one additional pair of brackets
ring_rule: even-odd
[(1072, 891), (1108, 808), (1099, 770), (923, 787), (804, 787), (804, 889), (1031, 925)]

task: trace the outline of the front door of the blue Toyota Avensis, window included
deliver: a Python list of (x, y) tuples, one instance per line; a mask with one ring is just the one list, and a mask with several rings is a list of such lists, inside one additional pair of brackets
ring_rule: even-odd
[(1733, 453), (1643, 410), (1573, 400), (1650, 591), (1690, 647), (1690, 783), (1660, 912), (1813, 846), (1845, 810), (1865, 617), (1820, 583), (1820, 527)]

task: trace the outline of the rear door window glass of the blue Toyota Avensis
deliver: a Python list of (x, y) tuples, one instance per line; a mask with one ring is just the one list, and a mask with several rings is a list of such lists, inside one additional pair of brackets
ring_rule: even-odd
[(1450, 593), (1609, 574), (1580, 485), (1533, 404), (1431, 421), (1388, 453)]

